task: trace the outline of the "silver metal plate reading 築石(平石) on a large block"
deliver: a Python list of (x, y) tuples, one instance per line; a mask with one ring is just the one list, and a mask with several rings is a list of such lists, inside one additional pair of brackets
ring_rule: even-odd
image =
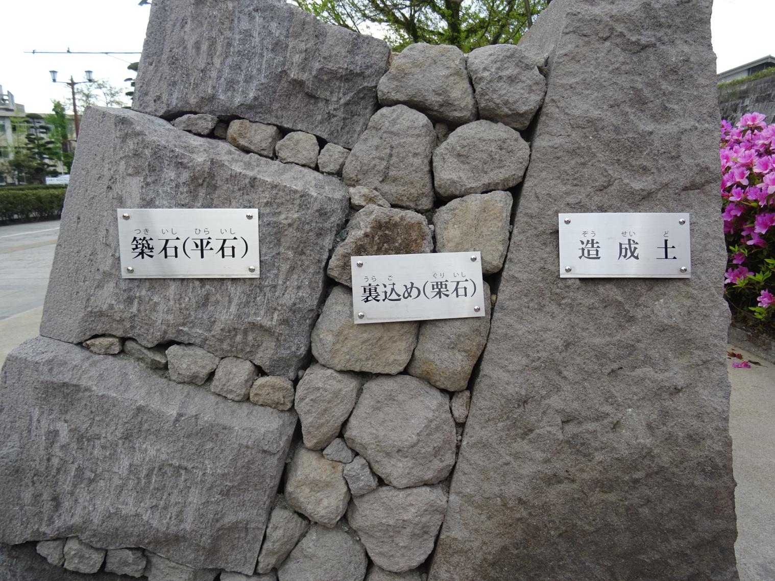
[(258, 278), (257, 208), (119, 208), (124, 278)]

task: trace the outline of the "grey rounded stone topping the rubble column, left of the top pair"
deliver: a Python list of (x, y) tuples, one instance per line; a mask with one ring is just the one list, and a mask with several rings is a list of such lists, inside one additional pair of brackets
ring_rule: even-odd
[(410, 44), (391, 61), (377, 95), (381, 105), (402, 103), (455, 125), (477, 118), (466, 55), (457, 46)]

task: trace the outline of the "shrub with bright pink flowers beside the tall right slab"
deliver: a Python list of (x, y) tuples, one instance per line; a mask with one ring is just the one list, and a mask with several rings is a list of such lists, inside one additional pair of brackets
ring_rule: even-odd
[[(735, 318), (775, 330), (775, 124), (743, 115), (722, 121), (724, 234), (729, 249), (724, 294)], [(766, 325), (766, 326), (765, 326)]]

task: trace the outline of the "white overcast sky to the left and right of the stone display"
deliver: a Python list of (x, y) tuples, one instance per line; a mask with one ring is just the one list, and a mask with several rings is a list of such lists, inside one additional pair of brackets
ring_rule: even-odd
[[(27, 112), (50, 112), (51, 99), (69, 99), (70, 89), (53, 84), (48, 71), (58, 70), (59, 80), (72, 74), (76, 81), (84, 70), (95, 78), (129, 90), (124, 82), (131, 73), (126, 65), (140, 55), (26, 54), (31, 50), (140, 51), (143, 48), (150, 6), (139, 0), (27, 0), (3, 5), (3, 56), (0, 84), (11, 91)], [(715, 0), (713, 46), (717, 70), (728, 70), (768, 54), (775, 55), (775, 0)]]

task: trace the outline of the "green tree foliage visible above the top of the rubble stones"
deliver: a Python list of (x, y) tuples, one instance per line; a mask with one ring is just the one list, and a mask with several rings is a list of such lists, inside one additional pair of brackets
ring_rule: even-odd
[(412, 43), (453, 44), (464, 52), (516, 43), (550, 0), (294, 0), (324, 22), (359, 33), (385, 31), (394, 50)]

